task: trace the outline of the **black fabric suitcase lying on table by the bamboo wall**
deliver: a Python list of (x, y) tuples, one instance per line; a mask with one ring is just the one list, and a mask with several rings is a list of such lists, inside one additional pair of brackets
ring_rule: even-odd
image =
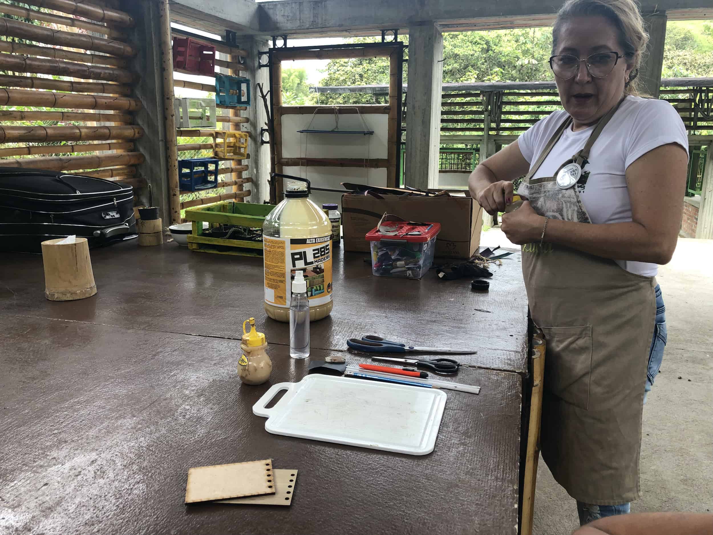
[(0, 167), (0, 250), (41, 253), (69, 235), (89, 247), (136, 238), (133, 188), (112, 180)]

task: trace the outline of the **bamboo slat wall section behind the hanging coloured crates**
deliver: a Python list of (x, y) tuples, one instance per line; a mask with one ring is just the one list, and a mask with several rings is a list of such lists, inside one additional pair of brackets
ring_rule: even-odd
[[(178, 21), (177, 21), (178, 22)], [(179, 24), (186, 26), (185, 21), (180, 21)], [(184, 34), (172, 34), (172, 37), (185, 37)], [(222, 74), (230, 74), (231, 76), (247, 76), (246, 60), (240, 63), (240, 58), (247, 57), (247, 51), (236, 47), (227, 46), (225, 44), (216, 44), (213, 41), (201, 39), (200, 36), (191, 36), (190, 39), (200, 41), (205, 44), (216, 47), (215, 71)], [(171, 62), (173, 65), (173, 61)], [(185, 71), (174, 71), (173, 74), (185, 73)], [(190, 74), (190, 73), (188, 73)], [(214, 98), (215, 97), (215, 77), (200, 76), (201, 81), (185, 81), (173, 77), (174, 88), (188, 88), (208, 93), (203, 97), (192, 98)], [(174, 92), (175, 96), (175, 92)], [(176, 97), (178, 98), (178, 97)], [(253, 96), (253, 99), (255, 96)], [(255, 106), (255, 102), (252, 103)], [(243, 114), (247, 110), (245, 106), (216, 106), (217, 107), (217, 130), (228, 131), (247, 131), (250, 128), (250, 120)], [(173, 113), (173, 111), (171, 112)], [(177, 119), (178, 121), (178, 119)], [(193, 141), (190, 140), (193, 138)], [(208, 138), (196, 142), (195, 138)], [(248, 143), (255, 143), (257, 138), (251, 136)], [(207, 128), (176, 128), (176, 151), (178, 159), (186, 158), (207, 158), (213, 156), (213, 148), (215, 148), (215, 130)], [(259, 141), (257, 141), (259, 143)], [(218, 169), (218, 184), (216, 188), (205, 190), (196, 195), (188, 191), (179, 191), (180, 195), (180, 210), (191, 208), (193, 206), (215, 203), (219, 200), (233, 200), (242, 203), (246, 197), (250, 196), (251, 190), (245, 189), (245, 184), (252, 183), (252, 178), (247, 177), (244, 173), (250, 168), (247, 160), (250, 159), (250, 153), (247, 154), (245, 160), (234, 160), (217, 158), (220, 161)]]

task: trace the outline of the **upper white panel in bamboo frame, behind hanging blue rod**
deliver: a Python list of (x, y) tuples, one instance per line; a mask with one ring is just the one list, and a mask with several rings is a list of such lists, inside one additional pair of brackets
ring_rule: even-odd
[[(332, 114), (282, 116), (282, 158), (386, 158), (389, 116), (364, 113), (361, 118), (373, 135), (298, 133), (308, 126), (312, 130), (332, 130), (337, 121)], [(358, 114), (339, 114), (339, 130), (364, 131), (364, 123)]]

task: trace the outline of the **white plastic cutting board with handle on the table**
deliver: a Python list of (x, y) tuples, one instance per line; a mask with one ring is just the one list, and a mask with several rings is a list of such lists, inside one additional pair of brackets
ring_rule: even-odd
[[(287, 392), (266, 409), (280, 390)], [(307, 375), (270, 387), (252, 412), (267, 417), (265, 430), (274, 434), (425, 455), (434, 451), (444, 407), (438, 389)]]

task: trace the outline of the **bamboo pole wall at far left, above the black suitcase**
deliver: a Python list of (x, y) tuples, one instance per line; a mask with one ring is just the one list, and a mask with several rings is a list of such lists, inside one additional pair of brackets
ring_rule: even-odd
[[(29, 5), (29, 8), (26, 7)], [(113, 0), (0, 4), (0, 166), (145, 185), (135, 21)]]

